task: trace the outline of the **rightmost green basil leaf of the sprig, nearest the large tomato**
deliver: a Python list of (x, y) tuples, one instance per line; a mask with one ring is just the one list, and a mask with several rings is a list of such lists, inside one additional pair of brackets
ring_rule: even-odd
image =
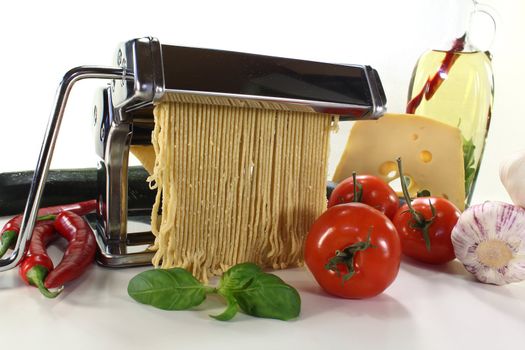
[(233, 296), (241, 310), (256, 317), (289, 320), (299, 315), (299, 293), (279, 277), (259, 273), (243, 289), (234, 290)]

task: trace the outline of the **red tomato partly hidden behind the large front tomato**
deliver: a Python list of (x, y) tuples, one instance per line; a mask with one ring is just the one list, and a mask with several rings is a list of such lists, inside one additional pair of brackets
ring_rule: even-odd
[[(361, 200), (384, 213), (390, 219), (399, 208), (399, 198), (394, 190), (381, 178), (373, 175), (358, 175), (357, 183), (362, 186)], [(358, 189), (359, 190), (359, 189)], [(337, 185), (330, 195), (328, 208), (354, 201), (354, 179), (349, 177)]]

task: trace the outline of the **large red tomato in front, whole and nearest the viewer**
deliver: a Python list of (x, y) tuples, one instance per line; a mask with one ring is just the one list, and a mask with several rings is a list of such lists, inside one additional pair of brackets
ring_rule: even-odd
[[(355, 252), (354, 274), (347, 280), (346, 265), (328, 268), (336, 252), (356, 244), (371, 246)], [(325, 211), (306, 237), (304, 259), (319, 285), (328, 293), (351, 299), (369, 298), (383, 292), (396, 278), (401, 243), (390, 219), (363, 203), (336, 205)]]

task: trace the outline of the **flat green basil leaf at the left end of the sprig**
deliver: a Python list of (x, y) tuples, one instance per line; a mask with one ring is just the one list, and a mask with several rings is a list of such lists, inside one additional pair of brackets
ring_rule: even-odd
[(130, 297), (162, 310), (186, 310), (201, 304), (207, 289), (181, 268), (153, 269), (139, 273), (128, 284)]

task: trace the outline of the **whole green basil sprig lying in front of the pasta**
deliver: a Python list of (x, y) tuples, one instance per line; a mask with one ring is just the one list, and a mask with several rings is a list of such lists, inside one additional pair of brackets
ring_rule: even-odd
[(219, 321), (232, 319), (239, 310), (255, 317), (290, 320), (301, 310), (297, 290), (252, 263), (230, 268), (217, 287), (203, 285), (181, 268), (148, 270), (131, 279), (128, 294), (139, 303), (163, 310), (187, 310), (202, 304), (208, 294), (219, 294), (226, 309), (210, 315)]

